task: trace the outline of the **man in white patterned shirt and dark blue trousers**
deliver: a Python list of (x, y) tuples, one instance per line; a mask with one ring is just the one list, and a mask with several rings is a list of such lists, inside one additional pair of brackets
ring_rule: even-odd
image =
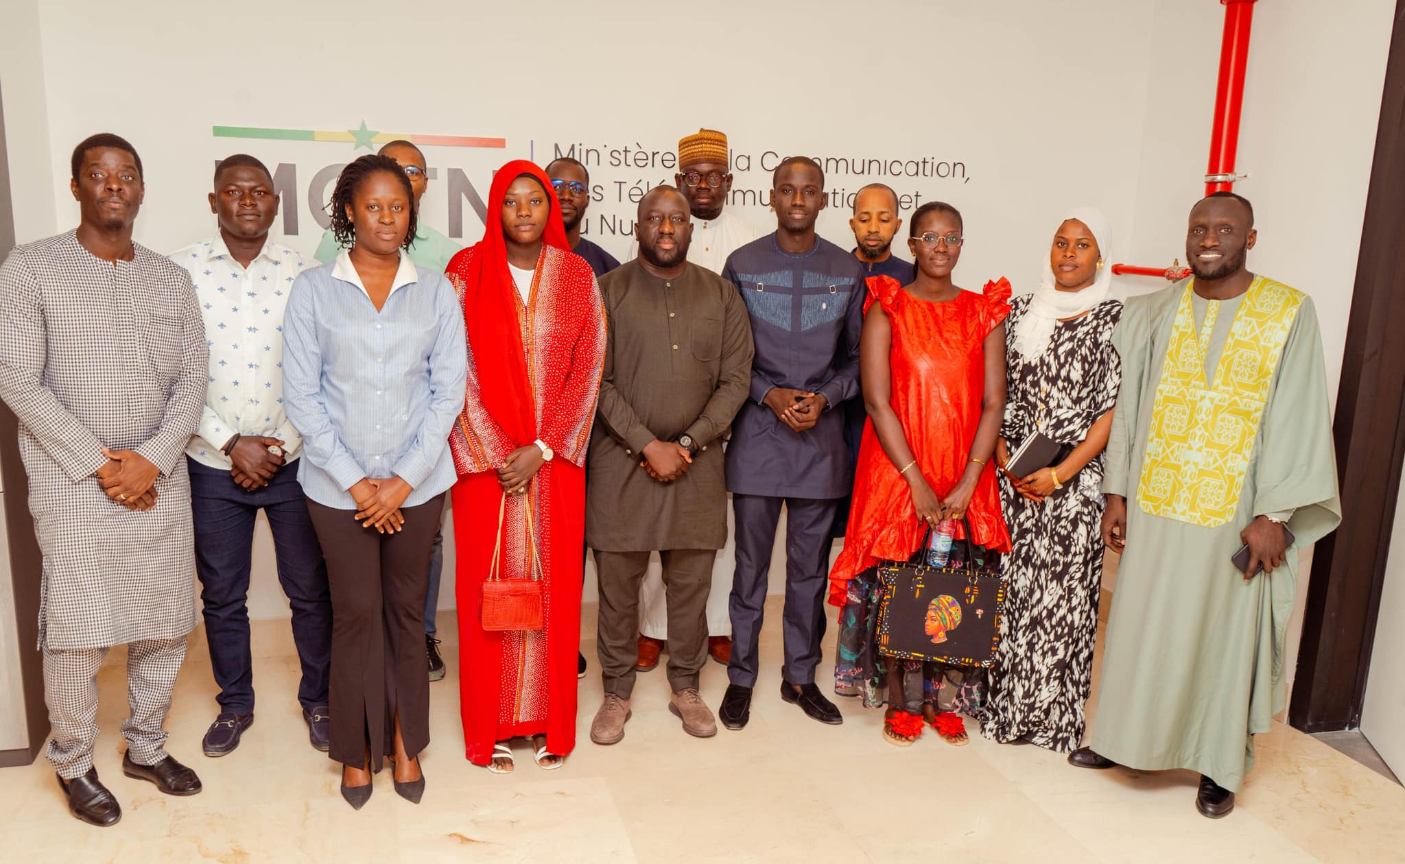
[(209, 209), (218, 233), (171, 256), (191, 274), (205, 341), (209, 389), (185, 455), (195, 521), (195, 572), (204, 600), (219, 715), (205, 756), (225, 756), (254, 722), (249, 648), (249, 573), (259, 510), (273, 530), (278, 580), (292, 607), (302, 665), (298, 701), (312, 746), (327, 749), (332, 594), (308, 503), (291, 468), (302, 438), (284, 416), (282, 315), (308, 263), (268, 239), (278, 195), (268, 169), (236, 155), (215, 167)]

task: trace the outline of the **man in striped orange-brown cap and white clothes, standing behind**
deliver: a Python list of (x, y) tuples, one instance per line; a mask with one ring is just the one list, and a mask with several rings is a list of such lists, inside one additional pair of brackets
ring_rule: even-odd
[[(726, 209), (732, 191), (731, 155), (726, 135), (715, 129), (698, 129), (697, 135), (679, 139), (679, 191), (688, 199), (693, 216), (693, 242), (688, 263), (721, 275), (728, 256), (762, 236), (750, 222)], [(636, 257), (639, 243), (629, 247)], [(735, 546), (732, 545), (731, 507), (728, 507), (728, 541), (712, 568), (712, 590), (707, 601), (708, 655), (726, 666), (732, 659), (732, 618), (728, 597), (732, 593)], [(658, 565), (649, 566), (639, 590), (639, 672), (659, 665), (659, 652), (669, 638), (667, 606), (663, 576)]]

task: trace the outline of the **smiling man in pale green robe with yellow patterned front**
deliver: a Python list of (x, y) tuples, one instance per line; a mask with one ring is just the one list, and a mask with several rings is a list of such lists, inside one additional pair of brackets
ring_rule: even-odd
[(1342, 521), (1316, 312), (1249, 273), (1256, 240), (1246, 199), (1201, 199), (1194, 277), (1127, 301), (1113, 337), (1103, 538), (1121, 563), (1092, 746), (1069, 756), (1197, 771), (1210, 818), (1234, 809), (1253, 736), (1283, 709), (1298, 551)]

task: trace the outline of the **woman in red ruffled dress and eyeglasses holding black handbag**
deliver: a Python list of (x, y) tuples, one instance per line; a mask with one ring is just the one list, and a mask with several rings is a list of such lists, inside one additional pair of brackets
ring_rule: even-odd
[[(868, 280), (860, 341), (868, 423), (858, 450), (844, 549), (830, 573), (829, 601), (842, 607), (835, 693), (887, 705), (884, 739), (909, 746), (930, 724), (964, 745), (957, 711), (979, 715), (985, 670), (884, 656), (877, 646), (878, 565), (908, 561), (927, 528), (965, 520), (978, 565), (998, 569), (1010, 551), (991, 455), (1005, 412), (1005, 316), (1010, 284), (984, 294), (951, 281), (961, 257), (961, 214), (924, 204), (912, 215), (910, 285)], [(957, 528), (957, 539), (964, 530)], [(951, 563), (965, 544), (951, 545)]]

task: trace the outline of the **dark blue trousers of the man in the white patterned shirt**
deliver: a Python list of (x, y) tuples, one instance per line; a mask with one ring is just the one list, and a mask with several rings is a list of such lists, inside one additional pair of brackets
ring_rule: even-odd
[(195, 523), (195, 573), (204, 603), (209, 665), (219, 684), (221, 711), (254, 712), (254, 667), (249, 648), (249, 570), (254, 523), (268, 517), (278, 559), (278, 583), (292, 608), (292, 643), (298, 648), (303, 708), (327, 704), (332, 666), (332, 596), (318, 534), (298, 466), (287, 465), (263, 489), (236, 485), (228, 471), (190, 464), (190, 509)]

